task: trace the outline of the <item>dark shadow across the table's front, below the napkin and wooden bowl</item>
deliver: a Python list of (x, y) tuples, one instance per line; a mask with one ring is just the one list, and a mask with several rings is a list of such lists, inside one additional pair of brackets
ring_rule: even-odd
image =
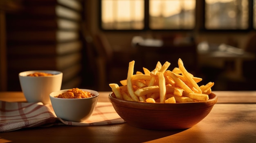
[[(0, 142), (11, 143), (141, 143), (171, 136), (184, 130), (158, 131), (135, 128), (127, 123), (95, 126), (56, 125), (2, 132)], [(22, 135), (23, 134), (23, 135)]]

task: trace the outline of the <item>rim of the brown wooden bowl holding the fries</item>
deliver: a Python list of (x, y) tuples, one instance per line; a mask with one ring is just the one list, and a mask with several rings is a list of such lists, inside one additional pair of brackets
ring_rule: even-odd
[[(184, 103), (148, 103), (148, 102), (138, 102), (138, 101), (127, 101), (127, 100), (124, 100), (124, 99), (117, 99), (115, 97), (112, 97), (112, 94), (114, 94), (114, 92), (110, 92), (110, 94), (108, 95), (108, 98), (109, 99), (114, 99), (114, 100), (118, 100), (118, 101), (121, 101), (121, 102), (127, 102), (127, 103), (141, 103), (141, 104), (193, 104), (193, 103), (207, 103), (207, 102), (211, 102), (211, 101), (215, 101), (215, 100), (218, 100), (218, 96), (211, 92), (210, 94), (213, 95), (214, 97), (207, 100), (207, 101), (195, 101), (195, 102), (184, 102)], [(217, 102), (217, 101), (216, 101)]]

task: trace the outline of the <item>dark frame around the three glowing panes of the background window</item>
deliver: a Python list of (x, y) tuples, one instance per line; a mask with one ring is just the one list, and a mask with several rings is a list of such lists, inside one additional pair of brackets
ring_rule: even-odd
[[(195, 26), (193, 29), (150, 29), (149, 28), (149, 0), (144, 0), (144, 29), (103, 29), (101, 26), (101, 6), (102, 0), (99, 0), (99, 29), (101, 31), (172, 31), (172, 32), (213, 32), (213, 33), (233, 33), (233, 32), (249, 32), (255, 31), (253, 23), (253, 0), (248, 0), (248, 28), (247, 29), (206, 29), (205, 27), (205, 0), (195, 0)], [(256, 0), (255, 0), (256, 2)], [(201, 10), (201, 11), (200, 11)]]

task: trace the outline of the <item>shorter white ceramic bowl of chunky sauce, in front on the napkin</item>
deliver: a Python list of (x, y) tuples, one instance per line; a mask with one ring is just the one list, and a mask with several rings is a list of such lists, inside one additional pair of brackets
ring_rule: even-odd
[(89, 89), (81, 89), (91, 92), (94, 96), (81, 99), (65, 99), (56, 97), (67, 90), (69, 89), (50, 93), (52, 108), (56, 116), (65, 121), (75, 122), (82, 122), (89, 119), (96, 107), (99, 92)]

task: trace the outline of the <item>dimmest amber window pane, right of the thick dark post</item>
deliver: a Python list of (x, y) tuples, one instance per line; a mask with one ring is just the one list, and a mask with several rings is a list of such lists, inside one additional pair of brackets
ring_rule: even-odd
[(205, 0), (206, 29), (247, 29), (248, 0)]

